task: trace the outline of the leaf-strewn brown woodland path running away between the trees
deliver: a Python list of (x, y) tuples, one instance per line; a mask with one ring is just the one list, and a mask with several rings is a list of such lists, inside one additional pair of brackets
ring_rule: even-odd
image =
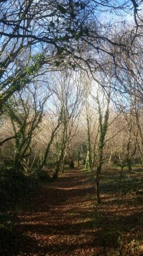
[(95, 193), (90, 174), (68, 170), (47, 183), (17, 225), (18, 255), (95, 255)]

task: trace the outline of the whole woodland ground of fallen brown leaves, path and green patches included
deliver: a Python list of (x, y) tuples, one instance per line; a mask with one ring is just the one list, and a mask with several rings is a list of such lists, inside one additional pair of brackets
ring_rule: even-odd
[[(96, 204), (94, 178), (81, 168), (43, 183), (9, 215), (0, 255), (143, 255), (142, 172), (101, 175), (101, 200)], [(3, 248), (2, 248), (3, 247)]]

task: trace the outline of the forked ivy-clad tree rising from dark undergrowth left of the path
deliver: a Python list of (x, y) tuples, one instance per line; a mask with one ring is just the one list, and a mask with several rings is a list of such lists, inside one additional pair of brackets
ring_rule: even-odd
[[(7, 105), (7, 112), (11, 119), (14, 133), (14, 166), (16, 168), (31, 154), (31, 142), (38, 125), (42, 121), (44, 104), (49, 98), (38, 95), (39, 88), (33, 84), (31, 89), (17, 93)], [(37, 132), (36, 132), (37, 131)]]

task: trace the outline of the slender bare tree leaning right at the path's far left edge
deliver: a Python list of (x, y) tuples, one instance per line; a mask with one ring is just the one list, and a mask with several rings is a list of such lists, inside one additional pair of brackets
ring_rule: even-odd
[[(78, 77), (79, 76), (79, 77)], [(83, 98), (83, 88), (81, 75), (67, 72), (58, 78), (58, 83), (55, 84), (54, 92), (58, 98), (62, 108), (62, 140), (61, 153), (58, 161), (55, 164), (55, 172), (53, 178), (58, 177), (61, 168), (61, 163), (64, 163), (66, 147), (72, 135), (73, 124), (77, 119)], [(63, 164), (62, 164), (63, 166)]]

